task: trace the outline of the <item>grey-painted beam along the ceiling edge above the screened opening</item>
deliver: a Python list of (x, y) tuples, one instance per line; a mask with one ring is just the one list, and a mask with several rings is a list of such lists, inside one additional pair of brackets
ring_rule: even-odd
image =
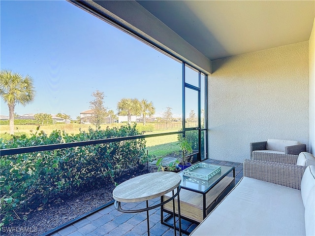
[(76, 6), (173, 55), (202, 72), (211, 61), (134, 0), (68, 0)]

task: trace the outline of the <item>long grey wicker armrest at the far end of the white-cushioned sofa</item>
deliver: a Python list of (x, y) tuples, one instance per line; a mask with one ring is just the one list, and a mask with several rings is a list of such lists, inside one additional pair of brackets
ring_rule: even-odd
[(245, 160), (244, 176), (300, 190), (306, 168), (283, 163)]

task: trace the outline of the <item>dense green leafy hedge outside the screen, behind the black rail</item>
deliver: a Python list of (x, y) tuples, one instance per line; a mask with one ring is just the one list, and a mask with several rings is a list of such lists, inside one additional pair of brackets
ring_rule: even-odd
[[(69, 135), (64, 131), (44, 132), (1, 140), (1, 149), (84, 141), (110, 137), (140, 135), (134, 126), (81, 132)], [(36, 209), (58, 196), (65, 197), (83, 188), (92, 187), (109, 176), (114, 179), (121, 171), (143, 163), (145, 140), (63, 148), (17, 155), (1, 156), (1, 225), (14, 219), (14, 210)]]

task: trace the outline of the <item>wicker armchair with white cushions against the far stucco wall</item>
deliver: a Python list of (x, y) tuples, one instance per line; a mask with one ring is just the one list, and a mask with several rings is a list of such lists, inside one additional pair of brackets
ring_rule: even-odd
[[(262, 142), (251, 142), (251, 158), (256, 157), (282, 157), (291, 155), (291, 158), (297, 158), (301, 152), (306, 152), (306, 144), (295, 140), (267, 139)], [(292, 163), (294, 164), (294, 163)]]

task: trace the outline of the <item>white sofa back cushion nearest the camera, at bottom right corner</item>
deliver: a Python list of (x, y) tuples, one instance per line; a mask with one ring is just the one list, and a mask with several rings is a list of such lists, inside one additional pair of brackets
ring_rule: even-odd
[(305, 205), (305, 233), (315, 235), (315, 186), (306, 200)]

